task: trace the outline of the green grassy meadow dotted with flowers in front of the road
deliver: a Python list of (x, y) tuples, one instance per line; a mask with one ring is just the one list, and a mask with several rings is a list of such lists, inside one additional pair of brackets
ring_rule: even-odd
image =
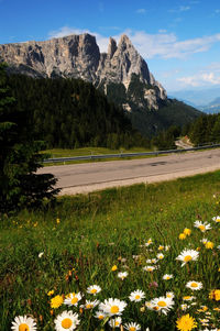
[[(0, 330), (10, 330), (14, 318), (24, 315), (35, 319), (37, 330), (74, 330), (68, 328), (69, 320), (74, 323), (70, 311), (78, 313), (77, 330), (120, 330), (109, 322), (113, 323), (112, 319), (120, 313), (117, 309), (123, 310), (121, 302), (114, 301), (111, 313), (97, 318), (100, 307), (94, 300), (103, 302), (109, 298), (127, 302), (121, 311), (121, 330), (187, 331), (219, 327), (220, 222), (212, 220), (220, 214), (219, 202), (220, 172), (216, 172), (156, 185), (63, 197), (44, 210), (2, 216)], [(196, 220), (202, 225), (209, 223), (211, 229), (205, 231), (206, 223), (205, 230), (195, 228)], [(185, 228), (191, 233), (179, 239)], [(202, 239), (209, 244), (202, 243)], [(186, 256), (198, 256), (196, 261), (187, 257), (182, 266), (176, 257), (185, 249), (193, 250)], [(128, 273), (123, 280), (120, 272)], [(169, 280), (163, 279), (165, 274), (172, 275)], [(187, 288), (190, 280), (193, 286)], [(199, 283), (202, 288), (197, 290)], [(101, 291), (96, 296), (87, 293), (91, 285), (100, 286)], [(129, 297), (138, 289), (145, 297), (132, 301)], [(78, 298), (79, 305), (64, 305), (68, 297)], [(61, 316), (63, 311), (68, 312)], [(55, 329), (57, 316), (59, 323), (63, 318), (63, 329)], [(136, 324), (128, 324), (132, 322)], [(35, 329), (23, 326), (18, 330)]]

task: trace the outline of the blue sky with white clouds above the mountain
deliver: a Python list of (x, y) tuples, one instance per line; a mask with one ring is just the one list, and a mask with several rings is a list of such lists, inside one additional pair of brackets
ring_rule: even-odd
[(166, 90), (220, 86), (219, 0), (0, 0), (0, 44), (125, 33)]

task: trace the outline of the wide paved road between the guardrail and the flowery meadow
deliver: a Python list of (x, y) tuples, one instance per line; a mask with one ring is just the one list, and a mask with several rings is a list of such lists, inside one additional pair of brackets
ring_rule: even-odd
[(151, 158), (95, 162), (41, 168), (54, 174), (61, 195), (90, 192), (136, 183), (170, 180), (220, 169), (220, 150), (169, 154)]

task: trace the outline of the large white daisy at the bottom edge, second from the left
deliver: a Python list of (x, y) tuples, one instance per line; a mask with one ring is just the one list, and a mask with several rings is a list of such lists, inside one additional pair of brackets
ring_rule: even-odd
[(54, 320), (56, 331), (75, 330), (79, 324), (78, 313), (73, 313), (73, 311), (63, 311)]

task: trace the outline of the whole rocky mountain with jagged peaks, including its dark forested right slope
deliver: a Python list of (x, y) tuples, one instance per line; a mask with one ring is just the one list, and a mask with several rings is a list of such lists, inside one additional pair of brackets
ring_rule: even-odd
[[(100, 53), (96, 37), (85, 33), (44, 42), (0, 45), (0, 62), (9, 73), (33, 78), (80, 78), (103, 91), (122, 107), (143, 135), (151, 136), (168, 125), (184, 125), (200, 112), (169, 100), (150, 73), (127, 35), (118, 45), (110, 37), (107, 53)], [(180, 109), (180, 111), (179, 111)]]

